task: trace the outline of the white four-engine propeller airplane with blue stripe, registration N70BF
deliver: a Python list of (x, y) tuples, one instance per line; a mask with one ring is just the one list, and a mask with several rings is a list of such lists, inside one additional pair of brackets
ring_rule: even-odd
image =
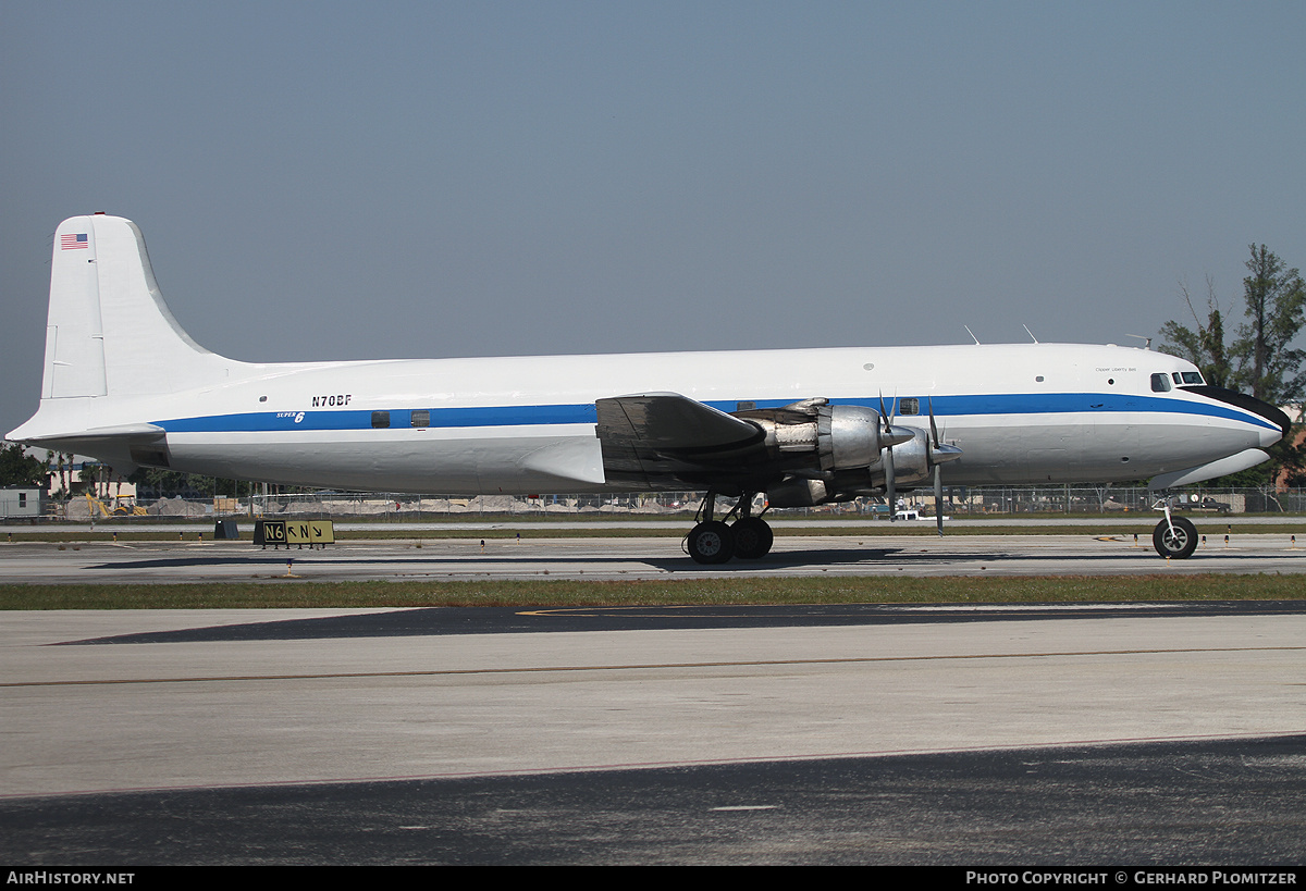
[[(705, 490), (691, 557), (754, 515), (942, 485), (1168, 489), (1267, 460), (1288, 418), (1151, 350), (1072, 344), (249, 363), (168, 312), (140, 229), (55, 233), (40, 408), (9, 439), (137, 466), (443, 495)], [(737, 498), (716, 516), (716, 498)], [(765, 510), (763, 511), (763, 513)], [(939, 510), (942, 517), (942, 510)], [(1196, 546), (1166, 516), (1166, 555)]]

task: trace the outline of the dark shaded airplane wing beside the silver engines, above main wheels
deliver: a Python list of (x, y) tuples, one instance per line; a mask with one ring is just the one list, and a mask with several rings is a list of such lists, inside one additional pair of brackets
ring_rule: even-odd
[(765, 457), (760, 426), (679, 393), (601, 398), (596, 406), (609, 485), (720, 485), (747, 476)]

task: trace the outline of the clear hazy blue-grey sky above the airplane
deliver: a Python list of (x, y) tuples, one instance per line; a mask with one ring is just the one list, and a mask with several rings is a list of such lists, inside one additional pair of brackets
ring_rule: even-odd
[[(1302, 3), (0, 0), (0, 425), (51, 236), (249, 361), (1132, 342), (1306, 265)], [(142, 345), (148, 349), (148, 345)]]

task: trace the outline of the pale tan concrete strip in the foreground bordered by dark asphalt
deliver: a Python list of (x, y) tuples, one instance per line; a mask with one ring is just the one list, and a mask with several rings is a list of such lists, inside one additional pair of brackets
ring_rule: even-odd
[(5, 614), (0, 793), (1306, 729), (1306, 611), (51, 645), (324, 614)]

